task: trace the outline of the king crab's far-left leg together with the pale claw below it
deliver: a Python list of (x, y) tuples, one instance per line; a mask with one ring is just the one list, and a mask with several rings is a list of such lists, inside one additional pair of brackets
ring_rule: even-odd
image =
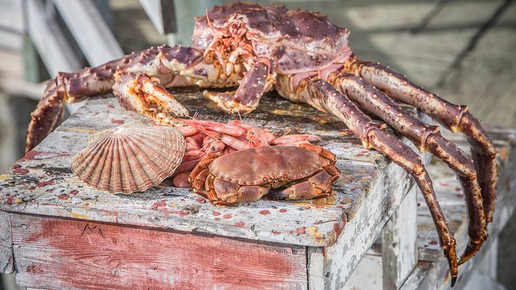
[(165, 119), (169, 114), (185, 116), (187, 111), (173, 97), (167, 100), (166, 96), (172, 95), (165, 95), (163, 87), (202, 86), (206, 81), (210, 81), (212, 87), (237, 84), (237, 75), (223, 75), (221, 78), (220, 70), (215, 62), (203, 60), (203, 51), (181, 46), (158, 46), (94, 68), (58, 73), (55, 79), (48, 82), (42, 100), (31, 114), (26, 152), (61, 123), (64, 102), (78, 102), (108, 93), (113, 90), (116, 80), (117, 95), (121, 96), (122, 105), (127, 109), (156, 118), (160, 105), (171, 105), (171, 110), (158, 118)]

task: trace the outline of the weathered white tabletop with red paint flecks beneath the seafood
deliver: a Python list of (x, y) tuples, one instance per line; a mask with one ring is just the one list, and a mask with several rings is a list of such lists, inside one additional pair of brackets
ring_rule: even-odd
[[(221, 114), (199, 91), (181, 89), (173, 93), (201, 120), (227, 122), (239, 118)], [(319, 144), (336, 154), (341, 171), (330, 197), (299, 202), (262, 199), (234, 207), (212, 206), (190, 189), (174, 188), (169, 180), (145, 192), (109, 194), (89, 188), (72, 174), (71, 159), (86, 146), (90, 134), (143, 118), (123, 109), (111, 94), (88, 100), (10, 171), (0, 175), (0, 210), (330, 246), (371, 188), (382, 182), (378, 175), (389, 174), (393, 179), (407, 176), (382, 154), (364, 149), (337, 119), (274, 95), (262, 99), (253, 114), (242, 116), (243, 122), (276, 134), (320, 136)], [(391, 166), (396, 169), (386, 170)], [(400, 194), (403, 193), (406, 192)]]

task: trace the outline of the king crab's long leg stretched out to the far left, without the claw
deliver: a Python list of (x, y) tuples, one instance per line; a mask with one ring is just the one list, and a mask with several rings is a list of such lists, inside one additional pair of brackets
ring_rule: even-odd
[(156, 76), (166, 87), (190, 85), (193, 84), (192, 79), (178, 75), (179, 72), (190, 69), (190, 74), (213, 78), (205, 69), (195, 69), (202, 57), (203, 52), (194, 48), (159, 46), (131, 53), (94, 68), (85, 68), (75, 73), (58, 73), (55, 79), (48, 82), (42, 100), (31, 114), (26, 152), (62, 122), (64, 102), (78, 102), (89, 96), (108, 93), (115, 83), (116, 71)]

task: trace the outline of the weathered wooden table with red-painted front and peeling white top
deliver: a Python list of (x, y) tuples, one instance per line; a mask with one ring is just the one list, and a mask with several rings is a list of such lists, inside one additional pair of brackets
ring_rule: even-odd
[[(235, 118), (219, 114), (199, 92), (174, 93), (201, 119)], [(380, 236), (388, 266), (369, 280), (398, 288), (417, 266), (412, 179), (363, 149), (335, 118), (274, 95), (243, 121), (278, 134), (321, 136), (342, 172), (331, 197), (221, 207), (170, 181), (129, 195), (88, 188), (69, 169), (87, 137), (143, 118), (111, 97), (89, 100), (0, 175), (0, 269), (16, 270), (20, 285), (342, 289)]]

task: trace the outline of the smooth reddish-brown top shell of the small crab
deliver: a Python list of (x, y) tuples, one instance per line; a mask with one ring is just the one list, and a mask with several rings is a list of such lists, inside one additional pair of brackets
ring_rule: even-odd
[(271, 181), (302, 179), (321, 167), (321, 158), (308, 149), (266, 146), (220, 156), (210, 164), (210, 172), (239, 185), (263, 185)]

